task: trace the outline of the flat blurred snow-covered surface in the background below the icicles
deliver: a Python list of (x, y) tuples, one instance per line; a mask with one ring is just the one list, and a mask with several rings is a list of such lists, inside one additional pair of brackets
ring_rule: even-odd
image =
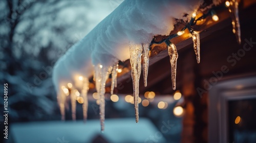
[[(98, 120), (88, 120), (87, 124), (82, 121), (18, 123), (12, 124), (9, 137), (13, 137), (15, 143), (61, 141), (85, 143), (91, 142), (98, 135), (108, 142), (144, 142), (159, 131), (150, 120), (141, 118), (141, 121), (141, 123), (135, 124), (134, 118), (109, 119), (105, 121), (104, 133), (101, 133), (98, 128)], [(11, 139), (8, 138), (8, 140)], [(164, 137), (158, 140), (165, 142)]]

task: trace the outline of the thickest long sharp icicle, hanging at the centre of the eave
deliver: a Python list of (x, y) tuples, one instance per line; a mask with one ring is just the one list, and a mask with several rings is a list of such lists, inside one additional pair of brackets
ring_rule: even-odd
[(133, 96), (135, 106), (136, 123), (139, 122), (139, 80), (141, 73), (142, 45), (130, 43), (130, 62), (132, 65)]

